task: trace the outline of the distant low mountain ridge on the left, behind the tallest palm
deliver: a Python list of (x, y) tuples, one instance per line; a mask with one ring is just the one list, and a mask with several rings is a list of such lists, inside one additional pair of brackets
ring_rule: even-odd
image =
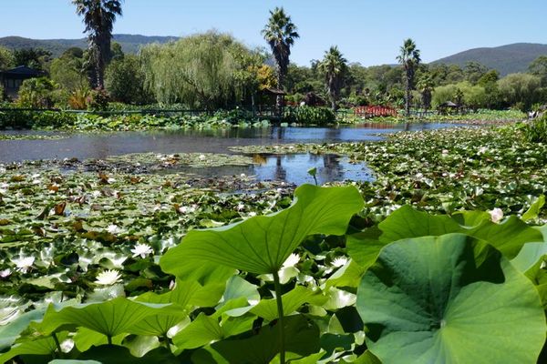
[[(113, 41), (121, 45), (125, 53), (137, 53), (142, 45), (150, 43), (167, 43), (177, 40), (177, 36), (147, 36), (147, 35), (113, 35)], [(60, 56), (64, 51), (72, 46), (86, 48), (88, 40), (81, 39), (30, 39), (21, 36), (5, 36), (0, 38), (0, 45), (10, 49), (22, 48), (44, 48), (52, 53), (53, 56)]]

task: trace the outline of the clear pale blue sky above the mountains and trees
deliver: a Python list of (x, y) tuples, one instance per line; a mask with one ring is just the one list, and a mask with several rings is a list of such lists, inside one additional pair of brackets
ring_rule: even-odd
[[(191, 35), (209, 29), (263, 46), (269, 10), (283, 6), (300, 39), (291, 61), (309, 66), (331, 45), (363, 66), (396, 63), (410, 37), (424, 62), (476, 47), (547, 44), (547, 0), (125, 0), (115, 34)], [(0, 37), (79, 38), (70, 0), (0, 0)]]

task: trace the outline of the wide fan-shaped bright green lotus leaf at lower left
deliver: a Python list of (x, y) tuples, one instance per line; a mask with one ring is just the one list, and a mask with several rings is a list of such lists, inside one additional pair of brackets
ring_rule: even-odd
[(180, 309), (178, 305), (144, 303), (123, 297), (60, 310), (55, 305), (50, 305), (38, 329), (44, 334), (50, 334), (59, 328), (82, 326), (112, 338), (128, 332), (141, 319), (176, 315)]

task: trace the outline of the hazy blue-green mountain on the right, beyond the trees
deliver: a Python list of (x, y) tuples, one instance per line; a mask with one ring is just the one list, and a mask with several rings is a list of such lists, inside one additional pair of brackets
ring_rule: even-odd
[(547, 56), (547, 45), (515, 43), (491, 48), (474, 48), (440, 58), (431, 63), (463, 67), (467, 62), (476, 61), (489, 68), (497, 69), (501, 76), (505, 76), (516, 72), (525, 72), (530, 63), (538, 56)]

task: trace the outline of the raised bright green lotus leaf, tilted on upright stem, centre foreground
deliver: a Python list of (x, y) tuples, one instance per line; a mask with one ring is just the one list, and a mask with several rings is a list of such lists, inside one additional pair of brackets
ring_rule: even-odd
[(258, 274), (275, 273), (306, 236), (344, 234), (349, 219), (363, 207), (355, 187), (303, 185), (294, 196), (291, 207), (273, 215), (191, 230), (161, 258), (161, 268), (179, 276), (185, 262), (212, 262)]

